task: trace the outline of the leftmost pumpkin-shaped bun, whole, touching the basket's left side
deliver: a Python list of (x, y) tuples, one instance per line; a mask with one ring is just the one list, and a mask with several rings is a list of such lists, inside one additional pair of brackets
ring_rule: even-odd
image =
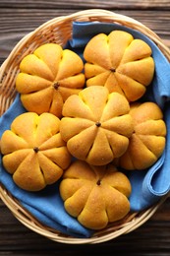
[(16, 117), (11, 130), (3, 133), (3, 165), (21, 188), (41, 190), (57, 181), (70, 164), (59, 125), (60, 119), (51, 113), (27, 112)]

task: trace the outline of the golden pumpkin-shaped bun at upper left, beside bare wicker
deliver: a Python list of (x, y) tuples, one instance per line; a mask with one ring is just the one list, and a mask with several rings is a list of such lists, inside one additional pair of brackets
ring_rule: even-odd
[(61, 117), (63, 102), (85, 85), (83, 69), (77, 53), (56, 43), (46, 43), (22, 60), (16, 89), (28, 111)]

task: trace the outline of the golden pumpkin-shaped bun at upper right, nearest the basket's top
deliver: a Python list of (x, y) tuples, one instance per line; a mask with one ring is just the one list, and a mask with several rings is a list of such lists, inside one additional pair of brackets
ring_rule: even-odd
[(85, 46), (86, 86), (101, 85), (129, 101), (145, 93), (154, 73), (151, 48), (129, 32), (96, 34)]

